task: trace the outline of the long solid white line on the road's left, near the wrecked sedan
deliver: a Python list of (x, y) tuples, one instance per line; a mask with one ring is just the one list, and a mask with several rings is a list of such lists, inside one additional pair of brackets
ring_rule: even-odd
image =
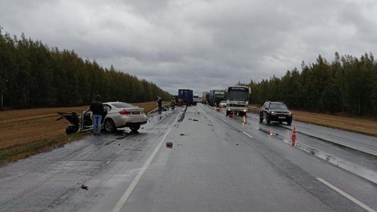
[[(182, 112), (181, 112), (182, 113)], [(178, 117), (180, 117), (181, 113), (179, 113)], [(160, 149), (162, 143), (164, 143), (165, 138), (169, 134), (170, 130), (173, 127), (173, 124), (178, 120), (178, 117), (173, 121), (172, 126), (167, 130), (164, 137), (162, 137), (161, 141), (157, 144), (156, 148), (153, 150), (152, 154), (150, 154), (149, 158), (144, 162), (143, 166), (141, 167), (140, 171), (136, 175), (136, 177), (132, 180), (131, 184), (128, 186), (122, 197), (119, 199), (118, 203), (116, 203), (115, 207), (111, 210), (111, 212), (119, 212), (124, 203), (126, 203), (128, 197), (130, 196), (131, 192), (135, 188), (136, 184), (138, 184), (141, 176), (143, 176), (144, 172), (147, 170), (149, 164), (152, 162), (153, 158), (156, 156), (158, 150)]]

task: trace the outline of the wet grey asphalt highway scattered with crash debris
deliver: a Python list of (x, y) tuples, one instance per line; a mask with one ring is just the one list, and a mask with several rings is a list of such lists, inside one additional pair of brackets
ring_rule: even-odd
[(284, 142), (291, 131), (255, 117), (177, 108), (150, 117), (139, 134), (88, 136), (8, 164), (0, 212), (377, 210), (375, 156), (297, 135), (318, 153), (310, 154)]

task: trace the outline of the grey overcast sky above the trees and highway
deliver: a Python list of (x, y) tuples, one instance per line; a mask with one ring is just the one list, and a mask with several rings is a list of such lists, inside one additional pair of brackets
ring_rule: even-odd
[(375, 0), (0, 0), (0, 26), (172, 94), (377, 54)]

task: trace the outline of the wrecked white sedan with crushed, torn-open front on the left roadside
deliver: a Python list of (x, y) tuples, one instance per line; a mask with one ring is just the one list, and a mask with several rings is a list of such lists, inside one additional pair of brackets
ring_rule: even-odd
[[(87, 131), (93, 129), (92, 111), (87, 109), (83, 114), (77, 115), (75, 112), (58, 112), (61, 116), (57, 119), (65, 118), (69, 121), (66, 134)], [(124, 102), (103, 103), (103, 115), (101, 129), (107, 132), (114, 132), (116, 128), (129, 127), (132, 131), (138, 131), (142, 124), (147, 123), (147, 116), (144, 108), (133, 106)]]

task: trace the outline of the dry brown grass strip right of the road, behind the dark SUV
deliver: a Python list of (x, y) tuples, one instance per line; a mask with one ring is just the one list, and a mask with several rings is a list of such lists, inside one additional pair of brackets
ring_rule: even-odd
[[(261, 108), (260, 105), (250, 105)], [(320, 114), (306, 111), (292, 111), (293, 120), (320, 126), (377, 136), (377, 121), (372, 117), (357, 117), (350, 114)]]

